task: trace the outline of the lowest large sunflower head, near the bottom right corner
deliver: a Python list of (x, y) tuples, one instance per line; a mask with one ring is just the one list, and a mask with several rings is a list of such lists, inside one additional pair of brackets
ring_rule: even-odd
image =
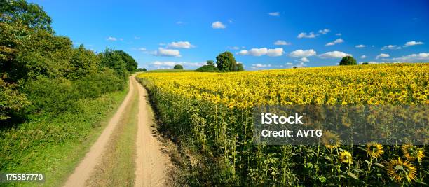
[(393, 158), (388, 162), (387, 172), (393, 180), (400, 182), (402, 179), (407, 179), (411, 182), (416, 179), (416, 167), (408, 160), (403, 161), (402, 158)]

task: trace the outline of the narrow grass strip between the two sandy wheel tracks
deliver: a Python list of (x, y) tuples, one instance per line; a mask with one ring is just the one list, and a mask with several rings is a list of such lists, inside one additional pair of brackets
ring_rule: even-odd
[(137, 138), (138, 95), (135, 90), (104, 151), (102, 161), (87, 181), (88, 186), (133, 186)]

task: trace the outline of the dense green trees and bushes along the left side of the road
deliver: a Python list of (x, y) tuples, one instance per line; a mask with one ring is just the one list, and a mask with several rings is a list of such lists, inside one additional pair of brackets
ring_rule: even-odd
[(122, 50), (94, 53), (55, 35), (41, 6), (0, 0), (0, 126), (74, 109), (77, 99), (123, 90), (137, 62)]

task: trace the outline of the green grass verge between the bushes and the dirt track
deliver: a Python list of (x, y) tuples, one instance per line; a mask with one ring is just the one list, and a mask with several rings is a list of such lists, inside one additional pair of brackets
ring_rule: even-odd
[[(40, 172), (43, 186), (60, 186), (74, 171), (123, 101), (128, 88), (81, 99), (76, 110), (0, 131), (0, 172)], [(0, 183), (34, 186), (37, 183)]]

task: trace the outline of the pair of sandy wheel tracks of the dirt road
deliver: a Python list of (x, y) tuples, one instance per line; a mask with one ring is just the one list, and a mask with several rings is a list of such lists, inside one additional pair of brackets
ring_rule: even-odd
[(115, 133), (116, 127), (123, 125), (121, 124), (123, 119), (131, 118), (132, 114), (127, 113), (125, 109), (130, 107), (133, 100), (136, 100), (133, 99), (135, 97), (138, 97), (137, 132), (134, 134), (137, 138), (134, 142), (135, 145), (130, 145), (136, 147), (134, 186), (165, 186), (168, 176), (167, 167), (171, 164), (168, 155), (161, 152), (161, 142), (154, 137), (152, 132), (151, 125), (153, 125), (154, 116), (151, 106), (147, 103), (147, 91), (137, 83), (134, 76), (130, 76), (129, 83), (130, 90), (118, 111), (75, 168), (74, 173), (69, 176), (64, 186), (88, 186), (88, 181), (93, 174), (103, 169), (100, 168), (100, 165), (102, 165), (103, 155), (107, 155), (106, 151), (109, 151), (106, 148), (108, 144), (111, 144), (109, 140)]

